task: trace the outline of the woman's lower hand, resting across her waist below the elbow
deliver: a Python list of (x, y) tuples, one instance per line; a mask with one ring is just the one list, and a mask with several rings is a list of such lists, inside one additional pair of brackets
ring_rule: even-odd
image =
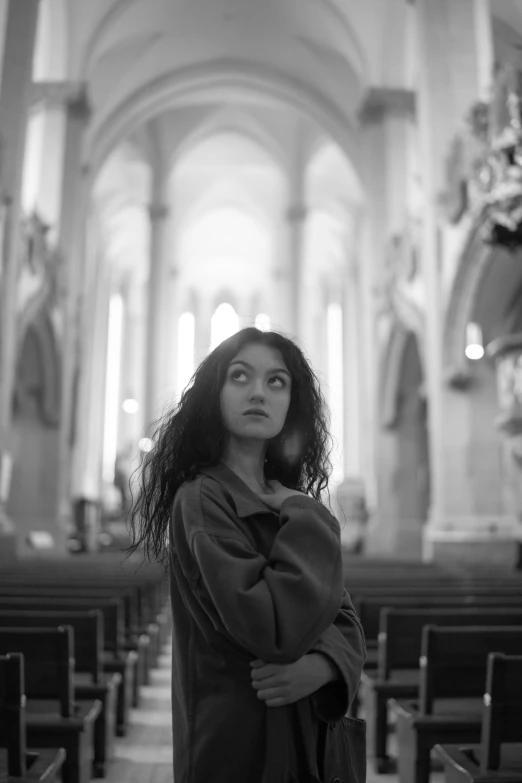
[(252, 687), (267, 707), (282, 707), (304, 699), (334, 679), (332, 666), (318, 653), (307, 653), (293, 663), (251, 661)]

